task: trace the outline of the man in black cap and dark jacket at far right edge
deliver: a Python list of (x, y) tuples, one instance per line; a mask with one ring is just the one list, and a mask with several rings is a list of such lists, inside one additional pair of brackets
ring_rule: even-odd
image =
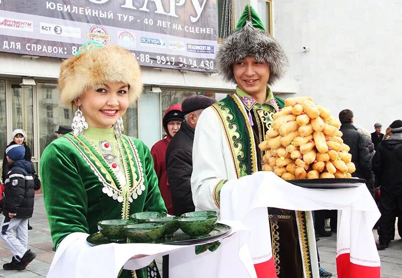
[[(373, 170), (376, 176), (380, 177), (381, 181), (381, 201), (379, 220), (379, 244), (378, 250), (383, 250), (388, 247), (389, 242), (394, 238), (395, 212), (398, 201), (397, 191), (395, 190), (395, 179), (400, 177), (402, 168), (400, 164), (393, 165), (396, 162), (397, 154), (393, 154), (397, 147), (402, 145), (402, 120), (395, 120), (391, 123), (392, 135), (378, 144), (377, 152), (373, 158)], [(399, 150), (399, 149), (398, 149)], [(394, 160), (391, 161), (392, 157)]]

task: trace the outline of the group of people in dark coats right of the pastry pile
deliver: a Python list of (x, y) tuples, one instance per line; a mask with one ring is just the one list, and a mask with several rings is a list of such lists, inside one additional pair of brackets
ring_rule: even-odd
[[(395, 219), (397, 230), (402, 234), (402, 120), (393, 121), (384, 133), (382, 124), (374, 124), (371, 134), (364, 128), (353, 124), (353, 112), (349, 109), (339, 113), (342, 123), (342, 139), (350, 147), (352, 162), (356, 166), (353, 177), (363, 179), (373, 198), (376, 200), (381, 217), (375, 225), (379, 236), (378, 250), (388, 247), (395, 236)], [(331, 231), (325, 230), (325, 219), (330, 218)], [(334, 223), (334, 224), (333, 224)], [(316, 235), (331, 236), (336, 232), (336, 212), (315, 212)]]

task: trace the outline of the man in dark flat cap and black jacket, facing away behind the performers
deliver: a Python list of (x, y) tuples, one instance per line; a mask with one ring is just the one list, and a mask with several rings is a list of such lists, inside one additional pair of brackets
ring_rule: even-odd
[(195, 95), (187, 97), (181, 104), (184, 121), (166, 151), (167, 179), (172, 194), (174, 215), (180, 216), (195, 210), (190, 182), (194, 130), (199, 115), (215, 102), (215, 99), (208, 96)]

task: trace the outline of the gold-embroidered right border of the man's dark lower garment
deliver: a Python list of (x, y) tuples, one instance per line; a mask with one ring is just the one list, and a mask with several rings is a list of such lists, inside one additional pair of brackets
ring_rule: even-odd
[(305, 278), (313, 278), (311, 265), (310, 236), (307, 213), (305, 211), (296, 211), (298, 223), (299, 240), (302, 245), (302, 259), (305, 270)]

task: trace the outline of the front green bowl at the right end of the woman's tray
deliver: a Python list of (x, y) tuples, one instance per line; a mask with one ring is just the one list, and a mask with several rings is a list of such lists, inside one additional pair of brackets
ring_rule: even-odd
[(215, 229), (217, 216), (182, 217), (180, 229), (191, 238), (205, 237)]

